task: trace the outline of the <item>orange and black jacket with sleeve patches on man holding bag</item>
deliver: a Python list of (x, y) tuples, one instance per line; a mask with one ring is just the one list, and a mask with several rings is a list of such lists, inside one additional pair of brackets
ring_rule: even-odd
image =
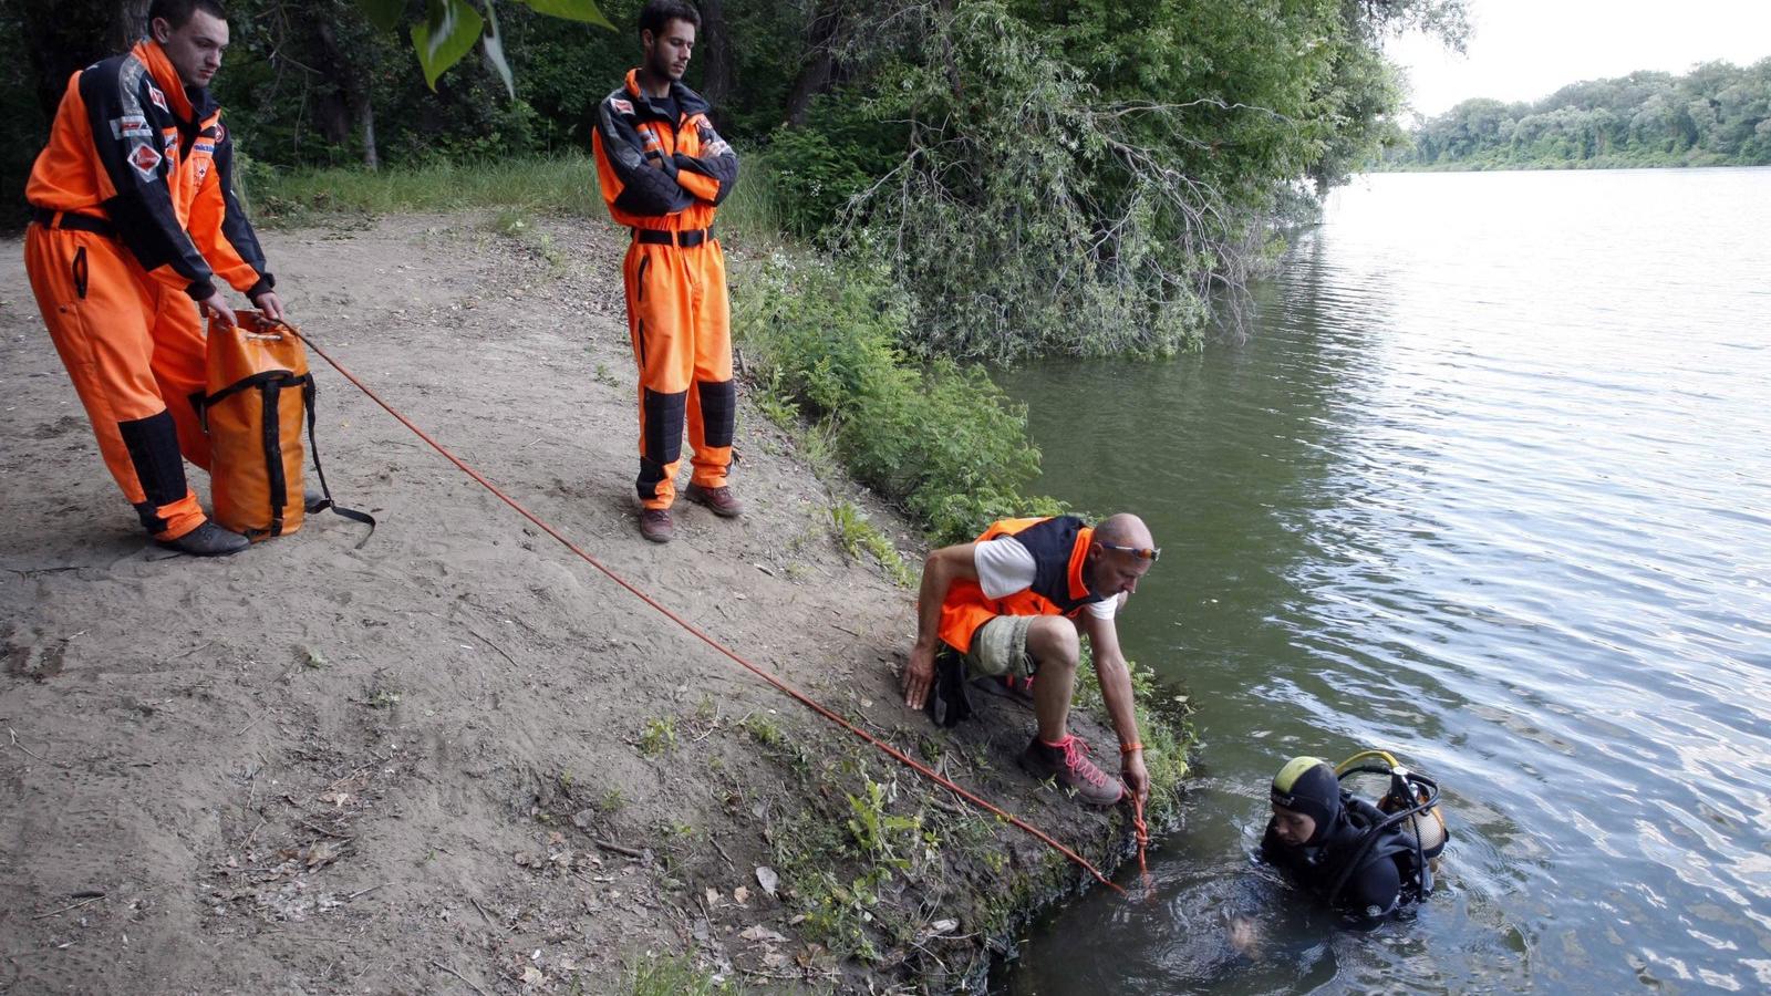
[(165, 50), (142, 41), (69, 78), (25, 198), (108, 222), (143, 271), (191, 298), (214, 294), (216, 275), (257, 294), (276, 282), (232, 170), (221, 108), (207, 89), (186, 90)]

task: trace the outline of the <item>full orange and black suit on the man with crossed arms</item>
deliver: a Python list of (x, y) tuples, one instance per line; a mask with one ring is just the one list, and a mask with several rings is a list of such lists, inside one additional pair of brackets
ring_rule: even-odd
[(707, 110), (682, 83), (671, 83), (669, 99), (650, 99), (634, 69), (597, 105), (592, 135), (602, 200), (634, 230), (622, 276), (639, 365), (636, 489), (646, 509), (668, 509), (677, 496), (685, 422), (691, 480), (721, 487), (731, 468), (731, 307), (712, 225), (739, 179), (739, 156)]

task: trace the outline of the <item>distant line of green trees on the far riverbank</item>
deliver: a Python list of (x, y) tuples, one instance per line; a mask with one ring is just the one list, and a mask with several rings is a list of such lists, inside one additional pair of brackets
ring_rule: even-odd
[(1771, 165), (1771, 58), (1631, 73), (1535, 103), (1463, 101), (1426, 121), (1396, 168)]

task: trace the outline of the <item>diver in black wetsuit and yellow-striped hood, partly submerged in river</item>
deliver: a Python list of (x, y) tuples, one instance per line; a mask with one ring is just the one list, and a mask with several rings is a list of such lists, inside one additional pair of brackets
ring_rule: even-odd
[[(1390, 776), (1378, 805), (1341, 789), (1341, 778), (1360, 771)], [(1261, 860), (1353, 922), (1374, 925), (1433, 891), (1435, 858), (1447, 838), (1433, 808), (1438, 785), (1396, 759), (1365, 751), (1335, 769), (1295, 757), (1273, 776), (1272, 801)]]

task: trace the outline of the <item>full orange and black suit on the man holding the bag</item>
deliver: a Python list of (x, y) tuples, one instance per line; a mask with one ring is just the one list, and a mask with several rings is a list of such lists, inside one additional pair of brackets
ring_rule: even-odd
[(158, 43), (67, 83), (25, 198), (25, 269), (99, 452), (142, 525), (204, 523), (184, 459), (209, 466), (197, 300), (214, 280), (275, 285), (232, 190), (234, 145), (205, 89), (186, 90)]

